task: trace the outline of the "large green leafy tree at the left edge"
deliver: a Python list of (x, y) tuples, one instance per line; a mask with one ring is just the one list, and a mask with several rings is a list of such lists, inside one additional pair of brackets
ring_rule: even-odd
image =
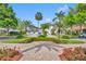
[(0, 26), (7, 28), (14, 28), (17, 25), (17, 20), (13, 9), (8, 3), (0, 3)]

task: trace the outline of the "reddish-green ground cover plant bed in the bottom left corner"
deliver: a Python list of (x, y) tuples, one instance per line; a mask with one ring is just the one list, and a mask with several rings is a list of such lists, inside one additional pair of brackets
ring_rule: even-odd
[(19, 61), (22, 56), (23, 54), (15, 48), (0, 49), (0, 61)]

